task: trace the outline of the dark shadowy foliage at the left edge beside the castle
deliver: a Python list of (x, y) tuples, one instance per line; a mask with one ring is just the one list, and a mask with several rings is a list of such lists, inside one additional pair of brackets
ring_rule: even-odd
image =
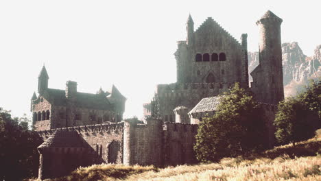
[(10, 111), (0, 108), (0, 180), (21, 180), (38, 174), (36, 148), (42, 140), (36, 132), (27, 130), (25, 121), (12, 119)]

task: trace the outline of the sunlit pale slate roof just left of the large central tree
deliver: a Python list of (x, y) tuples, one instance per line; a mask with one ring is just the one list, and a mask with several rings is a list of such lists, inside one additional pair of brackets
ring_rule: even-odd
[(195, 112), (209, 112), (216, 110), (220, 98), (221, 96), (203, 98), (200, 102), (198, 102), (198, 104), (196, 104), (196, 106), (189, 112), (189, 114)]

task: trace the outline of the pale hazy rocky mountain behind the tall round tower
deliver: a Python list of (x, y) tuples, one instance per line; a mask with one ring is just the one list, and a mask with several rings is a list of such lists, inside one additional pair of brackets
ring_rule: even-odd
[[(298, 43), (282, 44), (283, 84), (285, 97), (296, 95), (308, 80), (321, 78), (321, 45), (316, 47), (314, 55), (306, 56)], [(248, 52), (248, 71), (251, 73), (259, 64), (259, 52)], [(250, 82), (252, 77), (249, 76)]]

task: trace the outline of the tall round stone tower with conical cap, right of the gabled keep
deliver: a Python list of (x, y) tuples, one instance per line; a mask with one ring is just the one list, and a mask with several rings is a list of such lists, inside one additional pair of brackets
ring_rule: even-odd
[(259, 26), (259, 66), (252, 71), (252, 90), (257, 101), (277, 105), (284, 99), (281, 23), (273, 12), (268, 10), (257, 21)]

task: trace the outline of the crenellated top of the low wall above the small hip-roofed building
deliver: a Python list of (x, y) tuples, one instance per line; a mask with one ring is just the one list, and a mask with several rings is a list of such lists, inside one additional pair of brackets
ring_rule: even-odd
[(80, 126), (72, 126), (67, 128), (56, 128), (50, 130), (38, 131), (38, 134), (43, 137), (48, 137), (51, 134), (55, 133), (57, 130), (62, 131), (76, 131), (79, 134), (84, 133), (103, 133), (103, 132), (122, 132), (123, 130), (123, 122), (120, 123), (102, 123), (95, 125), (80, 125)]

